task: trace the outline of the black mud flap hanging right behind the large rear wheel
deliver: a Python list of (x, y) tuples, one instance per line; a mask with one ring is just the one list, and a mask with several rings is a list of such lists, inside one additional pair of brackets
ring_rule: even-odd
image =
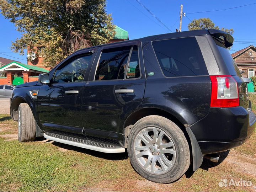
[(193, 161), (193, 171), (196, 171), (203, 162), (203, 154), (201, 152), (200, 146), (197, 143), (197, 139), (190, 127), (186, 128), (188, 136), (190, 137), (191, 148), (192, 148), (192, 161)]

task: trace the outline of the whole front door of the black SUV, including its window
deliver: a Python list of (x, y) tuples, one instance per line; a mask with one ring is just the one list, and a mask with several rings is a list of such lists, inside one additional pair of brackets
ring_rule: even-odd
[(94, 50), (75, 54), (56, 68), (49, 85), (41, 86), (37, 110), (44, 130), (82, 134), (82, 90), (93, 59)]

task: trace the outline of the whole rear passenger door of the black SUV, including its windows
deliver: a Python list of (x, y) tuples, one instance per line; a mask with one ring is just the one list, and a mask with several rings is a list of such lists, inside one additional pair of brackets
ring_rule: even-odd
[(139, 41), (103, 46), (82, 96), (87, 136), (122, 139), (124, 119), (141, 107), (145, 74)]

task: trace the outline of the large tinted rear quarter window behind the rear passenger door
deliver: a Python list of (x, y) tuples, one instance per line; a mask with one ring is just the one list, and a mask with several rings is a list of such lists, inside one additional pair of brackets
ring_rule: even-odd
[(195, 37), (154, 41), (152, 45), (166, 77), (208, 75)]

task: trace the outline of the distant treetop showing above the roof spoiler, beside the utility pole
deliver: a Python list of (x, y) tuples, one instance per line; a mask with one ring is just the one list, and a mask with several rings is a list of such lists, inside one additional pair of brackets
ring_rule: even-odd
[[(199, 19), (194, 19), (191, 23), (188, 24), (188, 30), (201, 30), (201, 29), (217, 29), (219, 30), (220, 28), (218, 26), (215, 26), (215, 24), (210, 20), (210, 18), (199, 18)], [(222, 31), (225, 31), (229, 34), (233, 34), (234, 30), (233, 29), (226, 29), (226, 28), (221, 28)]]

